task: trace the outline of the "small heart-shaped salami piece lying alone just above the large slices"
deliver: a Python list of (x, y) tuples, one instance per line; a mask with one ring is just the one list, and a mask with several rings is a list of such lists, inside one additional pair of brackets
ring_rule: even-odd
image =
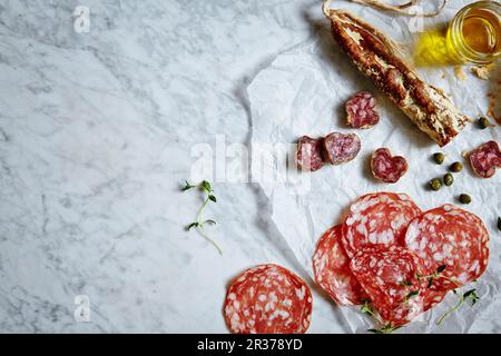
[(407, 171), (407, 161), (401, 156), (393, 157), (387, 148), (379, 148), (372, 154), (371, 170), (384, 182), (396, 182)]

